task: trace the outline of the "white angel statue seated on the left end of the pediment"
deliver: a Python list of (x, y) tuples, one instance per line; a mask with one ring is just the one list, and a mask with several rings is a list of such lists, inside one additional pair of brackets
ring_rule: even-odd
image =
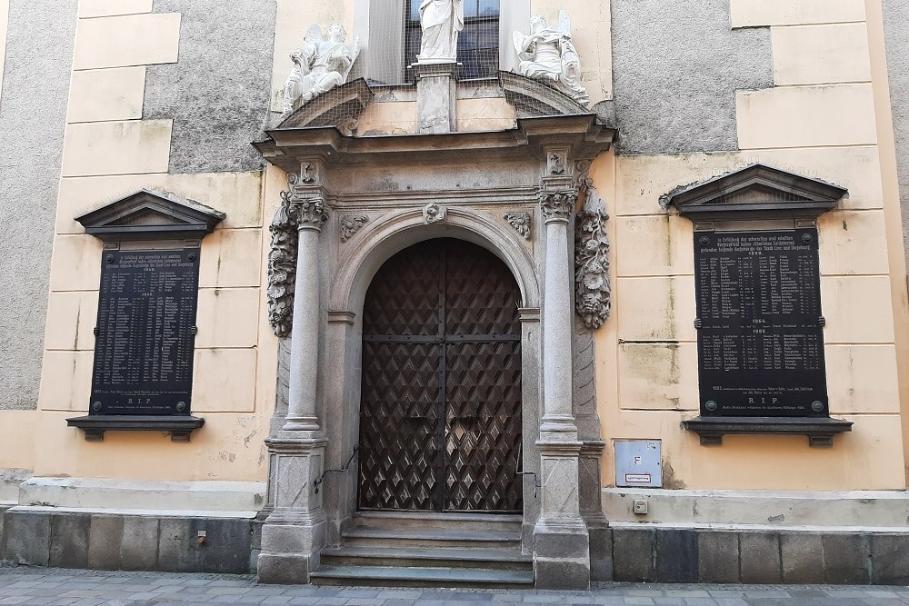
[(360, 37), (352, 45), (345, 44), (346, 41), (347, 30), (343, 25), (332, 25), (327, 40), (322, 36), (322, 27), (309, 27), (303, 45), (290, 55), (294, 69), (285, 84), (285, 114), (347, 82), (360, 55)]

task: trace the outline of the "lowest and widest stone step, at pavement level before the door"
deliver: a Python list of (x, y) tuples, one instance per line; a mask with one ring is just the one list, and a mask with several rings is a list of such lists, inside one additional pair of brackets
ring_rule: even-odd
[(368, 587), (475, 587), (533, 589), (532, 571), (469, 568), (392, 568), (322, 565), (310, 575), (315, 585)]

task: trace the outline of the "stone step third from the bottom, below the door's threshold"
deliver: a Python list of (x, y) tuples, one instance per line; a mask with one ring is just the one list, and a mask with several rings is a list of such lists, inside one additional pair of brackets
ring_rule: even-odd
[(343, 534), (345, 546), (401, 548), (473, 548), (521, 551), (521, 532), (397, 530), (355, 526)]

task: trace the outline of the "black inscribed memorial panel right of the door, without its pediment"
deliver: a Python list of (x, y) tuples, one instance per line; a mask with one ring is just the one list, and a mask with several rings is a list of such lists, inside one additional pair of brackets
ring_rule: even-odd
[(826, 417), (817, 230), (694, 234), (704, 416)]

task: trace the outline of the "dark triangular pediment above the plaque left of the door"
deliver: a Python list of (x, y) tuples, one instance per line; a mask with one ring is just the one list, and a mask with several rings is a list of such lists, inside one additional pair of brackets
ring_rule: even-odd
[(75, 220), (85, 227), (85, 233), (119, 241), (202, 238), (215, 231), (225, 216), (172, 194), (142, 190)]

